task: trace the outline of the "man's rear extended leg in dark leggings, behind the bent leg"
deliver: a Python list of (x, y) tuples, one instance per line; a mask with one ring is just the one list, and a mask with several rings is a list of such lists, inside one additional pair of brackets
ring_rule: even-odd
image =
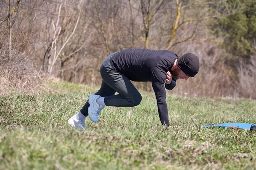
[[(114, 95), (116, 93), (116, 91), (109, 87), (104, 80), (102, 80), (102, 85), (99, 89), (99, 91), (96, 93), (96, 95), (105, 97), (105, 96), (111, 96)], [(88, 108), (89, 108), (90, 104), (89, 101), (87, 100), (87, 102), (84, 104), (84, 106), (81, 108), (80, 112), (84, 115), (84, 116), (88, 116)]]

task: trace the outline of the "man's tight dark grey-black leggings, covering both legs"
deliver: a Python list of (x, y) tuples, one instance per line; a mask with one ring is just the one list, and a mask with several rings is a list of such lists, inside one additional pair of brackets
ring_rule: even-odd
[[(104, 102), (107, 106), (137, 106), (140, 104), (142, 99), (140, 92), (134, 87), (131, 81), (124, 74), (116, 71), (111, 66), (110, 59), (116, 53), (108, 56), (100, 67), (100, 74), (103, 80), (101, 88), (96, 94), (105, 97)], [(116, 92), (118, 94), (114, 95)], [(90, 105), (87, 100), (81, 109), (81, 113), (84, 116), (88, 115), (89, 106)]]

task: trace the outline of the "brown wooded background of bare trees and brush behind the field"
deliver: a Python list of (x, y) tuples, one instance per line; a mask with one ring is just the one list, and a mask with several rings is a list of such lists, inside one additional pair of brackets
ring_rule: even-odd
[(256, 99), (256, 0), (0, 0), (2, 92), (49, 77), (99, 86), (102, 61), (127, 48), (200, 58), (169, 93)]

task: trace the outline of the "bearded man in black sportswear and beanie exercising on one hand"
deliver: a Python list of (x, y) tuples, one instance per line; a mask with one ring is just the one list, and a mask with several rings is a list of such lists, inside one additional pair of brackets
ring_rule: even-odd
[[(79, 113), (69, 119), (73, 127), (84, 128), (89, 115), (98, 122), (100, 111), (107, 106), (133, 107), (141, 102), (141, 95), (130, 80), (151, 82), (157, 99), (157, 108), (162, 125), (169, 126), (166, 91), (172, 90), (177, 79), (194, 77), (199, 71), (199, 59), (194, 54), (178, 57), (172, 51), (127, 49), (108, 56), (100, 67), (102, 85)], [(114, 95), (116, 92), (119, 94)]]

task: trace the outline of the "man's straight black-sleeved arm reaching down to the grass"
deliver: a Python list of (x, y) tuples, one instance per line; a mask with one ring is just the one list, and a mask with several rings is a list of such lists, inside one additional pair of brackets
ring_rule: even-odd
[(157, 108), (162, 125), (169, 126), (166, 91), (163, 83), (152, 81), (152, 87), (157, 99)]

